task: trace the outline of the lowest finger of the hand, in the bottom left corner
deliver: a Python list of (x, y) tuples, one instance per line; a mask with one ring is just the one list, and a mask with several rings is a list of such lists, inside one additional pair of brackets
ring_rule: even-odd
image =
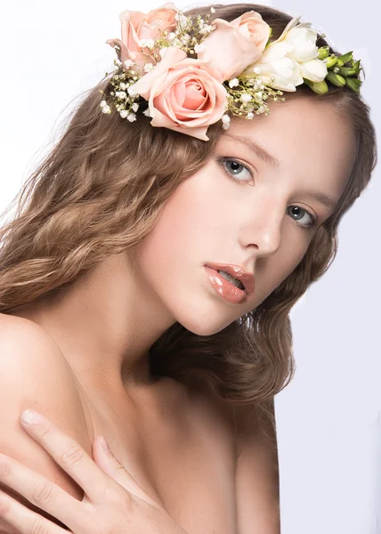
[(42, 515), (29, 510), (16, 499), (0, 490), (0, 517), (12, 527), (16, 527), (21, 534), (39, 532), (40, 534), (68, 534), (68, 530), (45, 519)]

